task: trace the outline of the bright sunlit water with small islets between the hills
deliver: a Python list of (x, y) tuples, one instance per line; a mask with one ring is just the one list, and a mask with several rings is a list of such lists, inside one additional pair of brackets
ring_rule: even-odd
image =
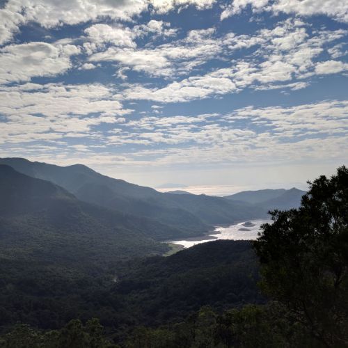
[[(184, 248), (189, 248), (190, 246), (211, 242), (216, 239), (256, 239), (258, 237), (258, 232), (260, 231), (260, 226), (262, 223), (270, 222), (269, 220), (250, 220), (241, 223), (236, 223), (235, 225), (229, 227), (216, 227), (211, 235), (205, 235), (202, 237), (191, 238), (187, 240), (176, 240), (171, 243), (180, 244)], [(253, 226), (251, 226), (251, 224)]]

